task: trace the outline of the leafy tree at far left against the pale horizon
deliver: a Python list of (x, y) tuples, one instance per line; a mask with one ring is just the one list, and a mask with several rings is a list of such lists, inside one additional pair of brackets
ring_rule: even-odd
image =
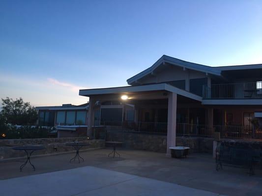
[(5, 123), (18, 125), (35, 124), (38, 115), (34, 107), (29, 102), (24, 102), (23, 98), (13, 100), (12, 98), (2, 98), (1, 118)]

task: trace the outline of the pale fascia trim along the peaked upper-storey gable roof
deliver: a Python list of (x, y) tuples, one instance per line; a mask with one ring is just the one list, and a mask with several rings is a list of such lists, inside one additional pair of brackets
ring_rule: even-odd
[(210, 74), (219, 75), (219, 76), (221, 75), (221, 71), (218, 69), (214, 69), (213, 67), (209, 67), (209, 66), (205, 66), (205, 65), (201, 65), (197, 63), (191, 63), (191, 62), (183, 61), (183, 60), (171, 57), (171, 56), (163, 55), (151, 67), (127, 79), (127, 83), (131, 84), (135, 82), (136, 80), (146, 76), (147, 74), (152, 73), (157, 67), (165, 63), (170, 63), (174, 66), (179, 66), (179, 67), (183, 67), (186, 69), (195, 70), (199, 72), (210, 73)]

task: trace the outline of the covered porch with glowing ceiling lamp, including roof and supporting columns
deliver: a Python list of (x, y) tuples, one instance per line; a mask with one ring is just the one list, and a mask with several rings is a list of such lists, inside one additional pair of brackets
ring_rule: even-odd
[[(169, 147), (175, 146), (177, 123), (190, 122), (189, 107), (191, 117), (194, 110), (199, 114), (197, 108), (201, 108), (202, 100), (165, 83), (80, 90), (79, 95), (89, 97), (88, 136), (97, 125), (167, 134), (167, 154)], [(205, 116), (196, 116), (192, 121), (205, 123)]]

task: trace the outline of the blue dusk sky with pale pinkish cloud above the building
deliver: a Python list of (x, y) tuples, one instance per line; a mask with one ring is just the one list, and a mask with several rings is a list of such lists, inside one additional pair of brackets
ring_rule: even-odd
[(262, 63), (262, 0), (1, 0), (0, 98), (82, 104), (163, 54)]

